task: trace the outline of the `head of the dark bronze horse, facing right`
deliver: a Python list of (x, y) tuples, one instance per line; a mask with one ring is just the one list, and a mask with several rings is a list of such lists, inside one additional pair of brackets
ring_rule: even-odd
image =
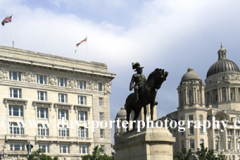
[(168, 76), (168, 72), (164, 71), (164, 69), (159, 69), (156, 68), (154, 71), (154, 87), (156, 89), (159, 89), (162, 85), (162, 83), (166, 80), (167, 76)]

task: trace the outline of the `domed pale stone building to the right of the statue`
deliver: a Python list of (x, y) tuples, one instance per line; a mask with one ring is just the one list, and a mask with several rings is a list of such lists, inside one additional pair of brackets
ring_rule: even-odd
[[(240, 127), (234, 127), (234, 122), (240, 117), (240, 70), (233, 61), (227, 59), (226, 53), (226, 49), (221, 46), (218, 61), (207, 72), (206, 85), (191, 67), (183, 75), (177, 88), (179, 107), (167, 117), (177, 121), (198, 120), (201, 123), (198, 128), (192, 124), (190, 128), (185, 125), (185, 132), (171, 130), (176, 137), (174, 152), (182, 148), (191, 148), (196, 152), (200, 144), (204, 143), (216, 154), (223, 152), (228, 159), (240, 159)], [(227, 127), (212, 127), (214, 117), (227, 122)], [(203, 120), (211, 122), (206, 132), (203, 130)]]

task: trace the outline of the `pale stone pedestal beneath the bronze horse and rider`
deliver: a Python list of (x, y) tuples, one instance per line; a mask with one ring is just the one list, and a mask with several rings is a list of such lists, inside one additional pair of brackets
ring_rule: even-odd
[(175, 137), (167, 128), (145, 128), (115, 137), (116, 160), (173, 160)]

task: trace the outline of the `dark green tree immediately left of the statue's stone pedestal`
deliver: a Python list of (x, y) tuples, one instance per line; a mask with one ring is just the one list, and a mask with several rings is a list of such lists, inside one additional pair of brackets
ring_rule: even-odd
[(103, 152), (102, 148), (95, 146), (92, 154), (81, 156), (81, 158), (82, 160), (114, 160), (114, 157), (103, 154)]

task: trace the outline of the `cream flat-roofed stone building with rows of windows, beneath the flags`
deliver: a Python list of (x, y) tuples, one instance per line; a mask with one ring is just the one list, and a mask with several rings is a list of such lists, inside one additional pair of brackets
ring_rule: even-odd
[(78, 160), (96, 145), (111, 155), (110, 129), (93, 132), (91, 122), (110, 120), (115, 76), (103, 63), (0, 46), (1, 159), (26, 159), (28, 142), (60, 160)]

